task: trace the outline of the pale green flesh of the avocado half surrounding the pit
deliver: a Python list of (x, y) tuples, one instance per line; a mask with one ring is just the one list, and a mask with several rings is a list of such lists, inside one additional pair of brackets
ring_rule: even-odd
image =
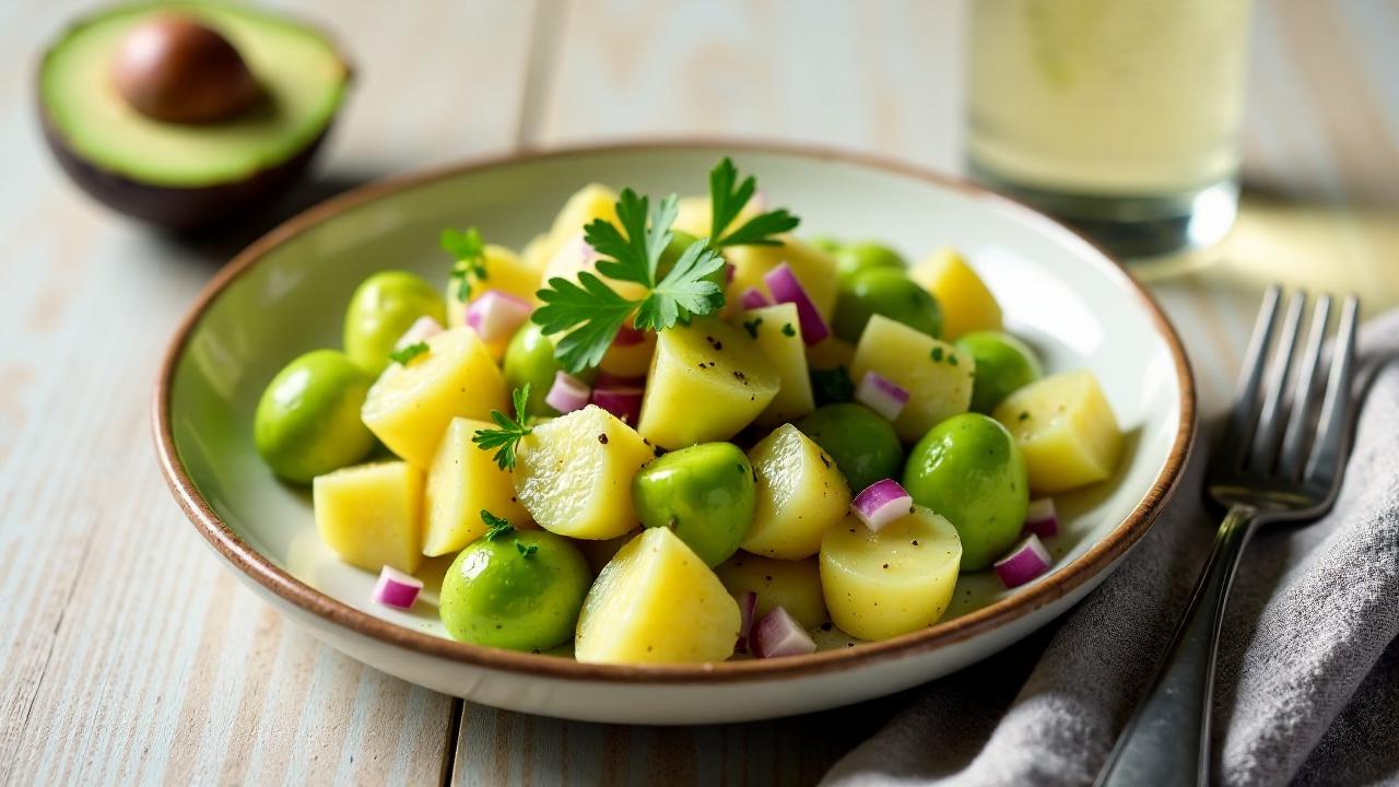
[[(246, 115), (208, 125), (162, 123), (118, 95), (112, 67), (122, 41), (152, 13), (179, 11), (218, 29), (257, 77), (264, 98)], [(39, 74), (55, 132), (90, 164), (155, 186), (238, 182), (315, 141), (344, 97), (348, 70), (316, 31), (231, 6), (113, 8), (63, 36)]]

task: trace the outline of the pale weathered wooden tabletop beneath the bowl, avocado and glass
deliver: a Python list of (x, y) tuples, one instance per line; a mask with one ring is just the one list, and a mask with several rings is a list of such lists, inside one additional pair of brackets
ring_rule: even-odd
[[(168, 496), (147, 405), (180, 314), (260, 227), (180, 244), (63, 179), (32, 69), (84, 6), (0, 4), (0, 784), (811, 783), (887, 713), (656, 730), (463, 706), (239, 587)], [(292, 6), (358, 70), (320, 183), (283, 214), (404, 169), (656, 134), (960, 169), (958, 3)], [(1389, 0), (1259, 0), (1240, 223), (1153, 283), (1206, 410), (1265, 281), (1354, 290), (1368, 314), (1399, 302), (1396, 41)]]

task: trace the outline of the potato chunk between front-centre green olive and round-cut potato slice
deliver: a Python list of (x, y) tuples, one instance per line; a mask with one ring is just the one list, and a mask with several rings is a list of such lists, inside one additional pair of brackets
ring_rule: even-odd
[(748, 451), (758, 476), (757, 508), (743, 549), (800, 560), (817, 553), (821, 536), (851, 507), (851, 489), (821, 447), (789, 423)]

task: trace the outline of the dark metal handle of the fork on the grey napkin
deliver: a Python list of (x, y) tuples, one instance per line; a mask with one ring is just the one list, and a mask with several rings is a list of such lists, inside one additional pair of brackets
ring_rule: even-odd
[(1207, 784), (1214, 653), (1224, 602), (1258, 511), (1233, 506), (1165, 661), (1098, 773), (1098, 787)]

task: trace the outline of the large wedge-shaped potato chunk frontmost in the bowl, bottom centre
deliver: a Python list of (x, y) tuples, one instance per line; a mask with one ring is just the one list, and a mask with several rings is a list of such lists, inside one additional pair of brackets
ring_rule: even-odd
[(597, 576), (574, 655), (595, 664), (698, 664), (733, 655), (739, 604), (669, 528), (646, 528)]

